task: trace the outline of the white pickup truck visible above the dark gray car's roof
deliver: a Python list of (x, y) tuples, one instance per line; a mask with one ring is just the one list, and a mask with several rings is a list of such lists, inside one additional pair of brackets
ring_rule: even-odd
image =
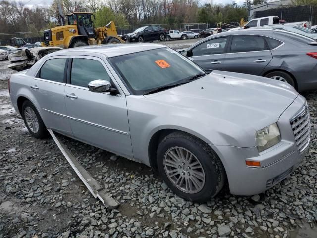
[(267, 16), (267, 17), (252, 19), (247, 24), (245, 24), (244, 27), (233, 28), (233, 29), (230, 29), (229, 31), (249, 29), (252, 27), (260, 27), (260, 26), (267, 26), (267, 25), (274, 25), (274, 24), (283, 24), (283, 25), (292, 25), (292, 26), (298, 25), (298, 26), (307, 27), (309, 29), (311, 29), (311, 27), (312, 27), (311, 21), (285, 22), (284, 23), (283, 21), (280, 21), (278, 16)]

